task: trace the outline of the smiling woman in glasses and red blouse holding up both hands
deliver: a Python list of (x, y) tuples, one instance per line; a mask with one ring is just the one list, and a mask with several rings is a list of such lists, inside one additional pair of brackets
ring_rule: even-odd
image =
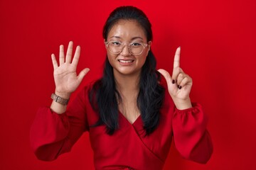
[(73, 60), (73, 42), (65, 57), (60, 45), (59, 64), (52, 55), (53, 103), (38, 110), (31, 128), (38, 159), (51, 161), (69, 152), (88, 131), (95, 169), (162, 169), (172, 137), (184, 158), (206, 163), (213, 152), (207, 118), (189, 98), (192, 79), (179, 67), (181, 48), (176, 50), (172, 76), (164, 69), (156, 71), (151, 23), (133, 6), (110, 13), (103, 38), (103, 77), (85, 86), (72, 103), (68, 98), (89, 72), (86, 68), (76, 74), (80, 47)]

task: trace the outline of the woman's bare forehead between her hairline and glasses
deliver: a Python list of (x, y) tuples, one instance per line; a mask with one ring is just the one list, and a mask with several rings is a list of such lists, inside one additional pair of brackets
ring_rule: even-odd
[(134, 37), (146, 40), (146, 33), (144, 28), (135, 20), (120, 20), (112, 26), (107, 35), (107, 39), (120, 38), (129, 40)]

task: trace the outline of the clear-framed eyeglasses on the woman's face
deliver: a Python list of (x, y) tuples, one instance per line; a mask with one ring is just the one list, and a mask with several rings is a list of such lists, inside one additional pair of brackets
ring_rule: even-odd
[(119, 55), (122, 50), (124, 50), (124, 46), (128, 45), (128, 50), (132, 55), (141, 55), (144, 48), (148, 46), (148, 44), (141, 42), (131, 42), (129, 44), (125, 42), (118, 41), (109, 41), (105, 42), (107, 49), (114, 55)]

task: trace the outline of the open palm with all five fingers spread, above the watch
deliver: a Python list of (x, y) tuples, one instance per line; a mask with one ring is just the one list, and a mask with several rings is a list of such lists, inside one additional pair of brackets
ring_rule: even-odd
[(85, 77), (85, 74), (87, 74), (87, 72), (89, 72), (90, 70), (88, 68), (82, 69), (80, 74), (77, 75), (76, 69), (80, 57), (80, 46), (76, 47), (73, 60), (72, 51), (72, 41), (70, 41), (68, 44), (68, 50), (66, 55), (64, 55), (63, 45), (60, 45), (59, 65), (55, 58), (55, 55), (51, 55), (54, 69), (53, 76), (55, 81), (55, 94), (63, 98), (70, 97), (70, 94), (78, 88), (83, 77)]

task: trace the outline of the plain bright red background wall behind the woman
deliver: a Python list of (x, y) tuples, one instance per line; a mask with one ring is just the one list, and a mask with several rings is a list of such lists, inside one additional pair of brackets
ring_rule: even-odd
[(69, 154), (41, 162), (31, 151), (29, 130), (54, 91), (50, 54), (73, 40), (82, 47), (78, 71), (91, 69), (82, 85), (100, 77), (102, 26), (120, 5), (142, 8), (149, 17), (158, 68), (171, 72), (181, 45), (181, 67), (193, 77), (191, 98), (210, 117), (214, 153), (208, 164), (186, 161), (172, 146), (165, 169), (256, 169), (255, 0), (1, 0), (0, 169), (93, 169), (87, 133)]

